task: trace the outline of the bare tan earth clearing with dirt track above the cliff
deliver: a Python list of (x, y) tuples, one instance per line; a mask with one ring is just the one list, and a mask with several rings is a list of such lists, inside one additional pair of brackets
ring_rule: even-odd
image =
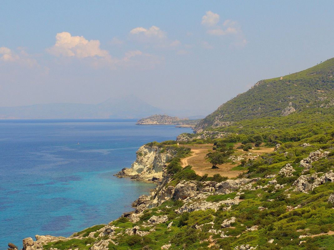
[[(236, 143), (234, 148), (237, 148), (241, 143)], [(205, 156), (207, 153), (212, 152), (213, 144), (195, 144), (195, 145), (187, 145), (187, 147), (191, 148), (191, 156), (181, 159), (181, 166), (185, 167), (187, 165), (192, 166), (192, 170), (196, 172), (196, 174), (203, 176), (204, 174), (208, 174), (208, 176), (213, 176), (214, 174), (220, 174), (221, 176), (227, 176), (228, 178), (237, 177), (243, 171), (231, 170), (233, 167), (240, 164), (240, 162), (235, 162), (235, 164), (224, 163), (221, 165), (217, 165), (216, 169), (212, 169), (212, 164), (207, 162)], [(265, 148), (261, 147), (260, 150), (251, 149), (248, 152), (243, 151), (242, 149), (237, 149), (233, 155), (247, 155), (247, 153), (262, 155), (265, 153), (270, 153), (274, 150), (274, 148)]]

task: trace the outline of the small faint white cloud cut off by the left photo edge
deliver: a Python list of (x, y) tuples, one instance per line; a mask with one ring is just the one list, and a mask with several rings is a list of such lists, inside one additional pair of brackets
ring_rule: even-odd
[(21, 49), (18, 53), (15, 53), (7, 47), (0, 47), (0, 61), (5, 63), (16, 62), (27, 67), (38, 65), (36, 60), (31, 58), (31, 56), (23, 49)]

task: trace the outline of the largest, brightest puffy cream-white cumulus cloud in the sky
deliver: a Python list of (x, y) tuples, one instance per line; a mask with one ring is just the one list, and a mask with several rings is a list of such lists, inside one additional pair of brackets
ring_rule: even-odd
[(68, 32), (57, 33), (55, 45), (47, 51), (55, 56), (110, 57), (108, 51), (100, 48), (99, 40), (88, 41), (83, 36), (71, 36)]

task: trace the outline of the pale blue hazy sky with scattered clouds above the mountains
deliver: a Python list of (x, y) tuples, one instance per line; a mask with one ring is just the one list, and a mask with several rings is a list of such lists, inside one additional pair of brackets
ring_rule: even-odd
[(134, 94), (212, 112), (334, 57), (333, 1), (2, 1), (0, 106)]

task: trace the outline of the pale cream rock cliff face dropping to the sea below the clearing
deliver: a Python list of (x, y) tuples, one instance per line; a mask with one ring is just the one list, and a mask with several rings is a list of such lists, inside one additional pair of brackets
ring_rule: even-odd
[(123, 168), (117, 176), (128, 176), (131, 179), (159, 182), (162, 180), (166, 161), (174, 157), (175, 154), (176, 152), (173, 150), (162, 151), (157, 146), (141, 146), (136, 152), (137, 159), (131, 165), (131, 168)]

